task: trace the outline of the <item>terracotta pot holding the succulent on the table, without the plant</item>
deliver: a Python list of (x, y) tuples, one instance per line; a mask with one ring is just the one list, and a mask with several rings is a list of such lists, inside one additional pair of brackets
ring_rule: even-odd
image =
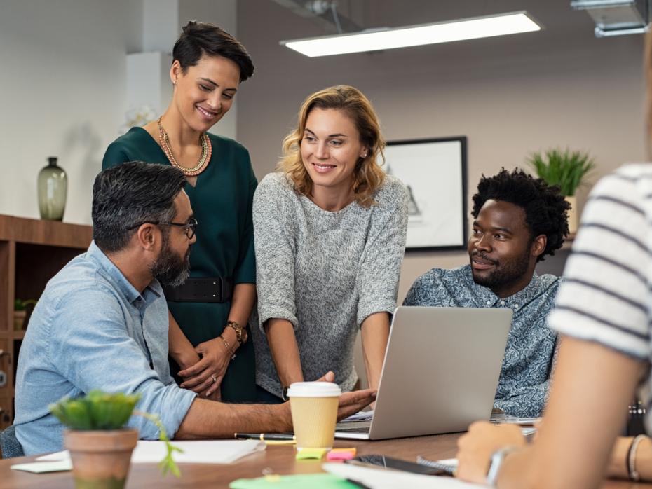
[(67, 429), (64, 445), (72, 458), (77, 489), (122, 489), (127, 481), (136, 429), (81, 431)]

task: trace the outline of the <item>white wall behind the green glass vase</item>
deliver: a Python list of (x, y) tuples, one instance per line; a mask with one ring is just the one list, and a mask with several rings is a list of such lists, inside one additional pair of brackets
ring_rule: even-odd
[(64, 221), (90, 223), (90, 195), (125, 112), (125, 53), (140, 48), (130, 0), (0, 3), (0, 213), (39, 217), (47, 156), (68, 173)]

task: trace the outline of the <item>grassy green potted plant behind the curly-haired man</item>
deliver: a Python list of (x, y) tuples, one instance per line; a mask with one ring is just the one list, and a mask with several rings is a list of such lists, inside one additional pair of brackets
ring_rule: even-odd
[(589, 153), (571, 151), (566, 148), (549, 149), (545, 153), (533, 153), (528, 160), (537, 176), (549, 185), (557, 185), (571, 205), (569, 210), (569, 233), (577, 232), (578, 214), (576, 191), (585, 183), (584, 177), (595, 168), (593, 158)]

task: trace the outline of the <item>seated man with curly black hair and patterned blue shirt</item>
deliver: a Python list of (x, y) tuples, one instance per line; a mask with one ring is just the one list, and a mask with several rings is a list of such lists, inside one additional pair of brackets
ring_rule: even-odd
[(484, 177), (473, 195), (470, 264), (421, 275), (403, 305), (510, 308), (512, 327), (494, 406), (539, 416), (548, 398), (557, 334), (546, 326), (560, 279), (537, 275), (568, 235), (568, 202), (559, 188), (521, 170)]

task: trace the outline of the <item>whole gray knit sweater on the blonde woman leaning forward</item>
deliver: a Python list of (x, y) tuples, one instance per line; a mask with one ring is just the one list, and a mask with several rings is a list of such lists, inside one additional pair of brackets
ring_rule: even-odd
[(353, 345), (374, 312), (392, 313), (405, 252), (405, 186), (387, 176), (368, 209), (357, 202), (328, 212), (271, 173), (254, 195), (258, 328), (252, 327), (256, 381), (281, 395), (264, 322), (294, 325), (305, 380), (331, 370), (342, 390), (353, 389)]

